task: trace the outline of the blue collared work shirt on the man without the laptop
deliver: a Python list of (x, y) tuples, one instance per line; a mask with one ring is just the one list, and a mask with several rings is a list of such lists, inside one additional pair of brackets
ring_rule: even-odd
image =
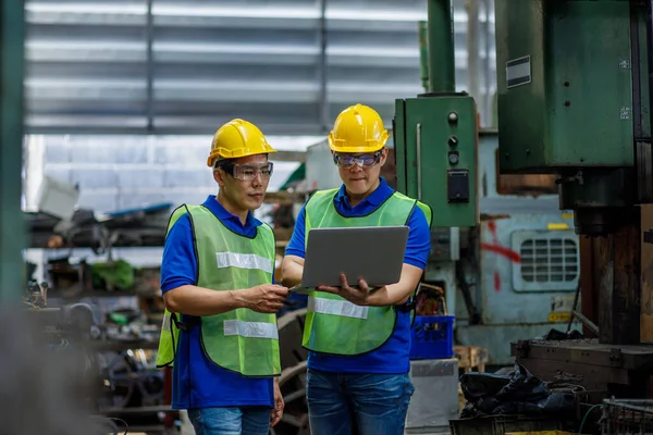
[[(210, 195), (204, 202), (227, 228), (236, 234), (254, 237), (262, 223), (251, 213), (245, 225)], [(183, 285), (197, 285), (197, 259), (190, 219), (181, 216), (165, 238), (161, 262), (161, 290)], [(213, 408), (235, 406), (273, 407), (273, 380), (248, 378), (215, 365), (201, 349), (200, 328), (181, 332), (172, 369), (172, 408)]]

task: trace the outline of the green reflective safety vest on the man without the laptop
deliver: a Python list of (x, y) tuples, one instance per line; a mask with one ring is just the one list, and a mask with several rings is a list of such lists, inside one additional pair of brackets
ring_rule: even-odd
[[(250, 288), (272, 283), (275, 241), (267, 224), (257, 227), (254, 238), (229, 229), (204, 206), (177, 208), (168, 224), (188, 214), (198, 263), (197, 286), (215, 291)], [(172, 320), (172, 321), (171, 321)], [(222, 314), (202, 315), (201, 348), (219, 366), (244, 376), (273, 376), (281, 373), (276, 315), (238, 308)], [(178, 344), (176, 313), (165, 310), (157, 366), (172, 365)]]

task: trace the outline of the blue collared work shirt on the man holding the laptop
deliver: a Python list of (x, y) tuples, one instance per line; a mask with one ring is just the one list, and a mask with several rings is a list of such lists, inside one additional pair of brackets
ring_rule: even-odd
[[(345, 186), (333, 198), (335, 209), (344, 216), (361, 216), (371, 213), (394, 194), (383, 177), (379, 187), (356, 207), (349, 204), (345, 194)], [(305, 256), (305, 207), (297, 214), (295, 231), (288, 246), (286, 256)], [(404, 263), (426, 269), (431, 251), (431, 233), (427, 216), (420, 208), (415, 207), (408, 220), (408, 243)], [(379, 349), (356, 357), (332, 356), (309, 352), (308, 366), (324, 372), (338, 373), (375, 373), (399, 374), (410, 371), (410, 313), (397, 311), (397, 323), (390, 339)]]

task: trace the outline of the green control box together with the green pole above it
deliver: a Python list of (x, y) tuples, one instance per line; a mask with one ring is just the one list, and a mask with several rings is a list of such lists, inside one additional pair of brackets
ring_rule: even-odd
[(455, 91), (451, 3), (430, 1), (429, 92), (395, 102), (397, 189), (434, 209), (434, 227), (479, 222), (477, 109), (473, 98)]

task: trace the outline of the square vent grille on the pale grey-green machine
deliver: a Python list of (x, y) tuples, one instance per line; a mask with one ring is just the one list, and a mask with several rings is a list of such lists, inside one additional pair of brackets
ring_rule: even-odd
[(518, 231), (513, 234), (513, 249), (520, 257), (513, 270), (516, 291), (576, 289), (580, 260), (572, 231)]

